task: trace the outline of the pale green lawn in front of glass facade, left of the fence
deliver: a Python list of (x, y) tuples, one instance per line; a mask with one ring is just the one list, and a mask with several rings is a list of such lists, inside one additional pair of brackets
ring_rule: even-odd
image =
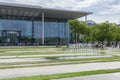
[(0, 56), (20, 56), (20, 55), (39, 55), (39, 54), (62, 54), (63, 49), (55, 46), (42, 47), (0, 47)]

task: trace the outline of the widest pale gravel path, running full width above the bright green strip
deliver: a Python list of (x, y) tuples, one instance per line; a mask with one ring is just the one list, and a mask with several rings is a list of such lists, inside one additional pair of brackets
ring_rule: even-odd
[[(102, 62), (87, 64), (69, 64), (57, 66), (44, 66), (33, 68), (15, 68), (0, 70), (0, 78), (14, 78), (23, 76), (37, 76), (46, 74), (58, 74), (69, 72), (80, 72), (100, 69), (116, 69), (120, 68), (120, 62)], [(117, 79), (118, 80), (118, 79)]]

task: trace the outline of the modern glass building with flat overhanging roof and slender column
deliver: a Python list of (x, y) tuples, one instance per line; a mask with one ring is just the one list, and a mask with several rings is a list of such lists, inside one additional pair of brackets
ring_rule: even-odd
[(0, 3), (0, 43), (53, 45), (60, 41), (65, 44), (70, 39), (67, 21), (89, 14), (91, 13)]

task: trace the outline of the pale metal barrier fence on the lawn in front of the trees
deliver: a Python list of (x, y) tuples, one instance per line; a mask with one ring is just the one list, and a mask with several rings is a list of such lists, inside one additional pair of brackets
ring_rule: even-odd
[(87, 54), (119, 54), (120, 49), (114, 47), (96, 47), (95, 44), (69, 44), (65, 50), (67, 53), (87, 53)]

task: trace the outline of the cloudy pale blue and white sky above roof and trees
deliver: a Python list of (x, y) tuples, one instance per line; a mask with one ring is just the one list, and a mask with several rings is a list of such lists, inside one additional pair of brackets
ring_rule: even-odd
[(120, 0), (0, 0), (0, 2), (93, 12), (88, 15), (88, 20), (96, 23), (105, 21), (120, 23)]

